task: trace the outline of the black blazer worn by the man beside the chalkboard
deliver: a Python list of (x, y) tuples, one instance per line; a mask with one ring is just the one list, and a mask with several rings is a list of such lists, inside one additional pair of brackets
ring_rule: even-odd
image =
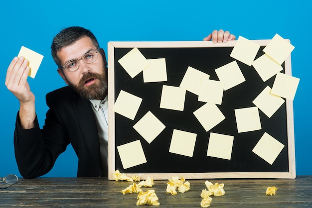
[(71, 143), (78, 157), (77, 177), (106, 177), (90, 102), (67, 86), (48, 93), (46, 104), (49, 109), (42, 129), (37, 118), (34, 128), (21, 129), (17, 115), (14, 149), (20, 174), (35, 178), (48, 173)]

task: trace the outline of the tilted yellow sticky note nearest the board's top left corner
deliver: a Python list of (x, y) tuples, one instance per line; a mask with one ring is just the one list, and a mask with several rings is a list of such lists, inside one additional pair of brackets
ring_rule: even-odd
[(137, 76), (150, 65), (148, 60), (144, 57), (138, 48), (134, 48), (129, 51), (125, 56), (119, 59), (118, 62), (131, 76), (131, 78)]

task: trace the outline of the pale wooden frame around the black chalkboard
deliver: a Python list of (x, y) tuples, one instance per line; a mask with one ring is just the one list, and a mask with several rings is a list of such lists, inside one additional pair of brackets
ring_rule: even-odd
[[(261, 46), (266, 46), (270, 40), (252, 40)], [(288, 40), (289, 41), (289, 40)], [(117, 146), (115, 143), (115, 112), (112, 110), (115, 99), (115, 66), (118, 60), (115, 60), (115, 50), (119, 48), (205, 48), (205, 47), (234, 47), (236, 41), (229, 41), (227, 43), (212, 43), (211, 41), (173, 41), (173, 42), (109, 42), (108, 43), (108, 107), (109, 107), (109, 175), (108, 178), (113, 180), (113, 173), (118, 167), (116, 167), (116, 152)], [(291, 75), (291, 55), (284, 62), (284, 73)], [(129, 76), (130, 77), (130, 76)], [(115, 98), (115, 99), (114, 99)], [(145, 172), (141, 170), (138, 172), (131, 172), (126, 174), (128, 176), (138, 175), (141, 179), (151, 176), (155, 180), (165, 180), (171, 178), (173, 175), (183, 176), (186, 179), (211, 179), (211, 178), (296, 178), (296, 166), (295, 166), (295, 135), (294, 135), (294, 116), (293, 116), (293, 101), (286, 100), (286, 122), (287, 122), (287, 145), (288, 150), (288, 170), (279, 172), (251, 172), (251, 171), (228, 171), (228, 172)], [(143, 138), (142, 138), (143, 139)], [(183, 162), (181, 162), (182, 164)], [(213, 167), (212, 167), (213, 168)], [(121, 170), (123, 172), (123, 170)]]

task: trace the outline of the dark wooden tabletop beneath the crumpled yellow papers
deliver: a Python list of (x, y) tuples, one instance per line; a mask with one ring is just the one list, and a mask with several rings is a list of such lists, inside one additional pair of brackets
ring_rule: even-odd
[[(187, 180), (187, 179), (186, 179)], [(206, 180), (187, 180), (190, 191), (166, 194), (168, 181), (155, 181), (154, 189), (163, 208), (200, 208), (202, 189)], [(213, 179), (224, 183), (225, 195), (211, 196), (211, 208), (250, 207), (312, 207), (312, 176), (297, 179)], [(8, 189), (0, 190), (0, 207), (102, 207), (137, 208), (138, 194), (123, 195), (121, 190), (131, 182), (108, 181), (103, 178), (37, 178), (20, 179)], [(276, 195), (266, 195), (267, 187), (278, 188)], [(147, 207), (147, 206), (146, 206)], [(151, 207), (151, 206), (148, 206)], [(153, 206), (156, 207), (156, 206)]]

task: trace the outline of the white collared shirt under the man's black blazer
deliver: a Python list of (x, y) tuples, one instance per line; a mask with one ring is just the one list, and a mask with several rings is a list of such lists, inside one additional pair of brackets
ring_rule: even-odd
[(90, 100), (98, 127), (102, 167), (108, 167), (108, 101)]

